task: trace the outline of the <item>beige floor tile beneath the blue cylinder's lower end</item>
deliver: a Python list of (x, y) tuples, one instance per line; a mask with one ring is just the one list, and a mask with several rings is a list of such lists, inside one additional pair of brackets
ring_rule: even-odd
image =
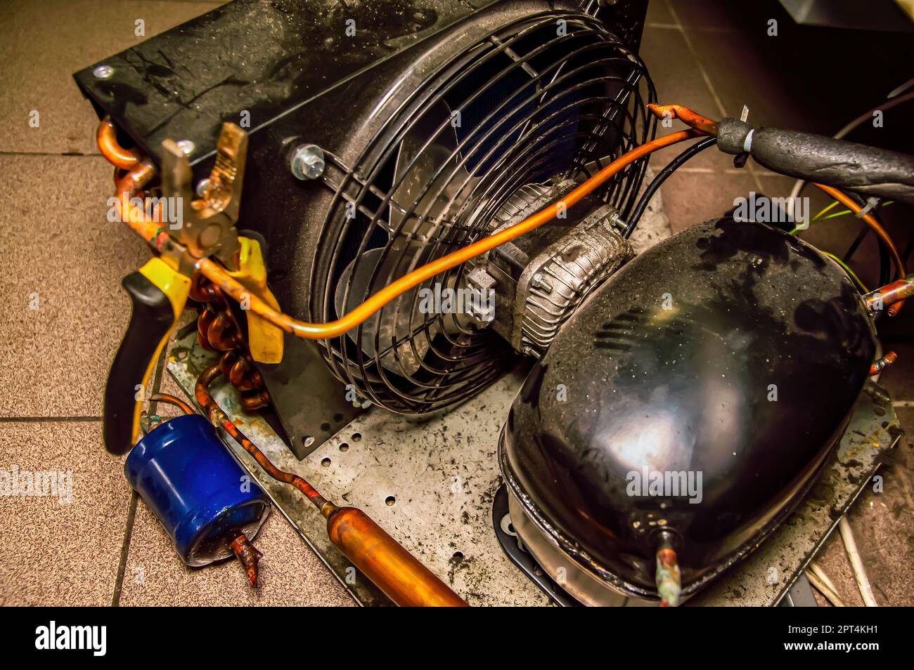
[[(126, 485), (124, 485), (126, 486)], [(124, 571), (122, 606), (353, 605), (344, 588), (274, 508), (254, 544), (263, 552), (251, 589), (236, 560), (188, 568), (141, 500)]]

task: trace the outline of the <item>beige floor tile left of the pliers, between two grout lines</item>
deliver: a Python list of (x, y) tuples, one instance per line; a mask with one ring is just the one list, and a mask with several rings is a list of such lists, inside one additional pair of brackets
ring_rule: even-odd
[(100, 416), (130, 315), (121, 278), (149, 253), (105, 217), (104, 159), (0, 156), (0, 183), (0, 384), (16, 389), (0, 415)]

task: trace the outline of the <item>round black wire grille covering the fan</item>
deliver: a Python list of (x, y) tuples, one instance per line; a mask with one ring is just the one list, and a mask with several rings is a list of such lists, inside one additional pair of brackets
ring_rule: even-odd
[[(653, 139), (642, 61), (596, 19), (549, 12), (485, 35), (414, 87), (336, 187), (312, 277), (311, 309), (337, 319), (415, 267), (491, 233), (528, 183), (582, 181)], [(331, 154), (331, 159), (335, 157)], [(624, 218), (643, 178), (634, 162), (596, 194)], [(428, 309), (464, 267), (324, 341), (333, 372), (372, 403), (421, 414), (461, 402), (512, 360), (491, 329)], [(423, 305), (425, 309), (423, 309)], [(496, 315), (497, 318), (497, 315)]]

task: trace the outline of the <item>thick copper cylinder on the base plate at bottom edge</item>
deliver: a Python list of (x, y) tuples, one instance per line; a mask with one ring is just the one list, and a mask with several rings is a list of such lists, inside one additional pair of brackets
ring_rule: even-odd
[(468, 607), (361, 509), (326, 508), (336, 549), (401, 607)]

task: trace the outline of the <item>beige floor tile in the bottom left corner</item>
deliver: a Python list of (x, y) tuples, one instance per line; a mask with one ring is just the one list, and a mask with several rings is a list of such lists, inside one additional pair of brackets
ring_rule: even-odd
[[(97, 422), (5, 423), (0, 479), (72, 471), (72, 500), (0, 496), (0, 605), (108, 605), (129, 488)], [(4, 487), (4, 493), (7, 492)]]

